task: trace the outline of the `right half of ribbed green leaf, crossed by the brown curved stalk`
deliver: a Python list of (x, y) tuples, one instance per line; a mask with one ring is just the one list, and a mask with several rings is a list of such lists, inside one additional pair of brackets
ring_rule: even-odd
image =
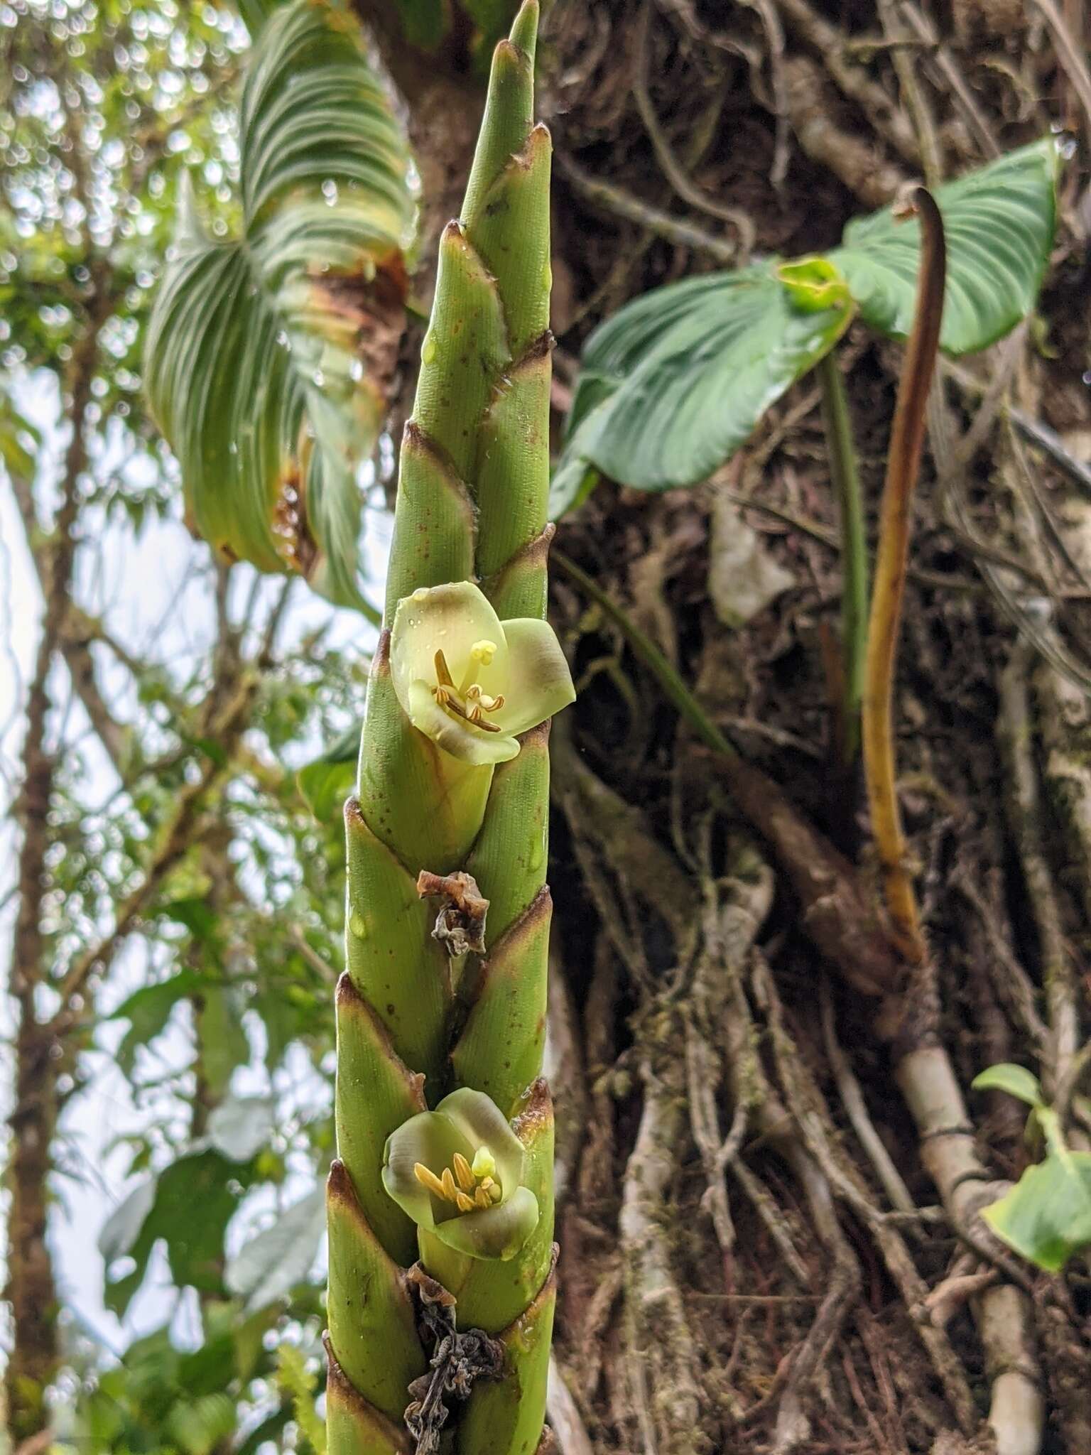
[[(1058, 157), (1044, 137), (935, 188), (947, 234), (947, 354), (995, 343), (1034, 307), (1053, 243)], [(912, 326), (919, 236), (916, 218), (899, 223), (884, 208), (850, 223), (829, 253), (864, 323), (896, 339)]]

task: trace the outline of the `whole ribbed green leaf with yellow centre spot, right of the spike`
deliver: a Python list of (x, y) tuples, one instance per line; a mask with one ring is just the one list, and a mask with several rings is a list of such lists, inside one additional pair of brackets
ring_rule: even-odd
[[(1034, 307), (1055, 227), (1052, 137), (935, 189), (947, 234), (941, 348), (970, 354)], [(850, 223), (842, 246), (668, 284), (627, 304), (583, 351), (550, 518), (599, 476), (640, 490), (694, 485), (826, 354), (854, 311), (909, 333), (919, 224), (890, 208)]]

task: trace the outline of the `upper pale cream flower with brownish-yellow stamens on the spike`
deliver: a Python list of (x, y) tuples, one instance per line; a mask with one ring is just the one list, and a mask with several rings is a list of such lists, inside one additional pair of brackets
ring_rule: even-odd
[(468, 581), (403, 597), (390, 634), (390, 675), (419, 732), (463, 762), (508, 762), (518, 733), (576, 700), (548, 621), (500, 621)]

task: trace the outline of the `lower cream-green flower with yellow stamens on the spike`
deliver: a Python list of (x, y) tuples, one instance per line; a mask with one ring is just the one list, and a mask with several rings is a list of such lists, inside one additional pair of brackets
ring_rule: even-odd
[(383, 1186), (419, 1228), (471, 1259), (515, 1257), (538, 1225), (524, 1151), (483, 1091), (460, 1087), (387, 1138)]

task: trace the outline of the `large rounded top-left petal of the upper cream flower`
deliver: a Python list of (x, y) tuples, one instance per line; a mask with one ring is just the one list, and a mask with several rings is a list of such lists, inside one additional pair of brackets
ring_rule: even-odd
[(496, 646), (492, 662), (480, 671), (477, 681), (492, 695), (503, 693), (502, 684), (508, 679), (503, 627), (489, 598), (471, 581), (422, 586), (403, 597), (390, 631), (390, 675), (404, 711), (410, 710), (409, 691), (413, 682), (435, 685), (436, 652), (447, 658), (458, 687), (470, 666), (470, 650), (476, 642), (492, 642)]

